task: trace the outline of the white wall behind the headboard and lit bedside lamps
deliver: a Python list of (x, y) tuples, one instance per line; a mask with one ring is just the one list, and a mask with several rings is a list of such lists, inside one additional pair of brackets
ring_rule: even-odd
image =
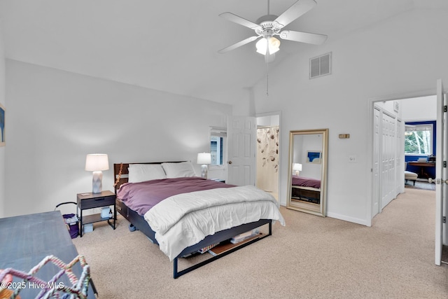
[(191, 160), (200, 174), (209, 127), (227, 127), (232, 113), (225, 104), (14, 60), (6, 60), (6, 88), (6, 216), (51, 211), (92, 190), (87, 153), (109, 155), (103, 190), (113, 190), (114, 162)]

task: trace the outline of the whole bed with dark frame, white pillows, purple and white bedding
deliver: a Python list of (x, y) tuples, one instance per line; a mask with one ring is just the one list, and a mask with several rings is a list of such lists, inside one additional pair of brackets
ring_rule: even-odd
[[(273, 221), (284, 225), (274, 197), (254, 186), (232, 186), (197, 177), (191, 162), (120, 163), (113, 168), (118, 213), (173, 261), (175, 279), (272, 235)], [(246, 213), (253, 208), (255, 215)], [(196, 227), (197, 223), (204, 226)], [(266, 234), (179, 271), (179, 258), (263, 225), (268, 227)]]

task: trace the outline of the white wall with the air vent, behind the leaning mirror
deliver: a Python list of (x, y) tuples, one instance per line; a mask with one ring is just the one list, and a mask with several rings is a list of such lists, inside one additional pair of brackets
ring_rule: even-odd
[[(370, 225), (370, 99), (435, 92), (437, 78), (448, 84), (446, 15), (446, 10), (408, 11), (338, 41), (329, 36), (323, 46), (300, 48), (270, 69), (269, 99), (265, 81), (255, 86), (256, 113), (281, 111), (282, 157), (288, 156), (290, 130), (329, 128), (328, 216)], [(309, 79), (309, 58), (330, 51), (332, 74)], [(350, 139), (338, 139), (342, 133)], [(349, 155), (357, 162), (349, 162)], [(287, 163), (281, 159), (282, 204)]]

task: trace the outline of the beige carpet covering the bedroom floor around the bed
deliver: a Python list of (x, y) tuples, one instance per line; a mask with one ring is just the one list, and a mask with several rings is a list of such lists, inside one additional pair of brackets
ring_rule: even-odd
[(371, 228), (281, 213), (286, 227), (179, 279), (122, 217), (73, 242), (99, 298), (448, 298), (448, 266), (434, 265), (434, 191), (406, 188)]

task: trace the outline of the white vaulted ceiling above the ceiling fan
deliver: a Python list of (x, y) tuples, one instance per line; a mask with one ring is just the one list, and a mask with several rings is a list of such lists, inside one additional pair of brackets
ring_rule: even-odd
[[(328, 35), (326, 43), (415, 7), (444, 0), (316, 0), (286, 29)], [(295, 0), (270, 1), (280, 15)], [(0, 0), (6, 57), (179, 95), (232, 103), (265, 78), (255, 43), (219, 54), (253, 31), (218, 15), (255, 22), (267, 0)], [(282, 41), (272, 69), (304, 47)]]

